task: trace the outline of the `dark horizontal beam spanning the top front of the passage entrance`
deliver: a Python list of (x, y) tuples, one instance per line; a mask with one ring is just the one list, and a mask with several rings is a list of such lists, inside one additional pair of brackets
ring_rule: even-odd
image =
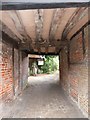
[[(75, 0), (74, 0), (75, 1)], [(73, 0), (70, 1), (58, 1), (56, 0), (54, 2), (46, 2), (46, 1), (37, 1), (37, 2), (31, 2), (30, 1), (17, 1), (15, 0), (12, 2), (10, 0), (2, 1), (0, 4), (0, 10), (26, 10), (26, 9), (51, 9), (51, 8), (73, 8), (73, 7), (88, 7), (90, 6), (90, 2), (88, 0), (80, 1), (76, 0), (76, 2), (73, 2)]]

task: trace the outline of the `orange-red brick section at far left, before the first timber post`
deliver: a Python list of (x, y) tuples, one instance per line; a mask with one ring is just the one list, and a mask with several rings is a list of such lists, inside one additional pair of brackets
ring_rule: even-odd
[[(8, 47), (7, 47), (8, 46)], [(2, 43), (2, 61), (0, 61), (0, 96), (2, 99), (10, 99), (13, 96), (13, 76), (12, 76), (12, 46)]]

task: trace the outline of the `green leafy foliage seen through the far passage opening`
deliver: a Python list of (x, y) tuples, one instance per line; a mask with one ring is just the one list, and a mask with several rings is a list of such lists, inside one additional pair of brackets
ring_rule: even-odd
[(40, 68), (43, 73), (53, 73), (59, 67), (58, 56), (45, 56), (44, 65)]

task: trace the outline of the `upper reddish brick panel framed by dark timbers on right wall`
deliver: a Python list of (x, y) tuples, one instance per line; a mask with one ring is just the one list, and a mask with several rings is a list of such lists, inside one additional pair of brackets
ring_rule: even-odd
[(83, 60), (82, 32), (70, 42), (70, 63), (79, 63)]

